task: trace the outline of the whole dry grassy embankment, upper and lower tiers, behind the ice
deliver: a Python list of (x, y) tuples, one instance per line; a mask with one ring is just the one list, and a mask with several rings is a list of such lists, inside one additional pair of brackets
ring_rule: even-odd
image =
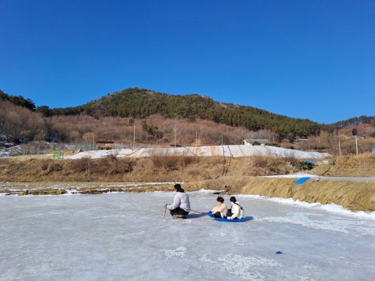
[[(97, 194), (123, 191), (142, 192), (170, 190), (172, 185), (139, 185), (126, 187), (123, 182), (184, 182), (187, 191), (224, 190), (229, 194), (257, 194), (294, 198), (322, 204), (336, 203), (352, 210), (375, 210), (375, 183), (347, 181), (307, 181), (295, 185), (293, 179), (256, 178), (303, 171), (301, 160), (252, 156), (242, 158), (188, 157), (153, 155), (150, 158), (105, 157), (77, 160), (0, 159), (0, 192), (24, 194), (63, 194), (76, 188), (79, 193)], [(375, 155), (364, 153), (334, 158), (327, 165), (315, 167), (311, 174), (323, 176), (374, 177)], [(219, 179), (213, 179), (219, 176)], [(28, 182), (28, 187), (16, 182)], [(46, 188), (37, 188), (41, 183)], [(81, 185), (77, 182), (89, 182)], [(122, 184), (103, 183), (121, 182)], [(34, 183), (34, 184), (32, 184)], [(47, 183), (66, 183), (51, 189)], [(70, 184), (67, 184), (70, 183)], [(89, 185), (89, 187), (87, 187)], [(9, 187), (19, 186), (19, 191)], [(30, 188), (34, 186), (34, 188)], [(28, 191), (26, 191), (28, 190)]]

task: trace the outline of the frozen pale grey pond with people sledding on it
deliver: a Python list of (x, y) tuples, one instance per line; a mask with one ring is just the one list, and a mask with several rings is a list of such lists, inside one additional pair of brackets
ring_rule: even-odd
[[(0, 280), (375, 278), (373, 213), (237, 196), (245, 222), (163, 219), (173, 196), (2, 196)], [(216, 205), (217, 195), (189, 196), (194, 210)]]

